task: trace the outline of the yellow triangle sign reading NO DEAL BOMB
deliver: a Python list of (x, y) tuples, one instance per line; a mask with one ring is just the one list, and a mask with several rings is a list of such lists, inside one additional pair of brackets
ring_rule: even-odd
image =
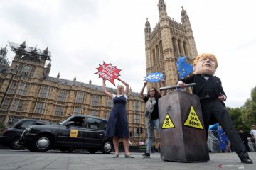
[(201, 121), (199, 120), (198, 115), (196, 114), (196, 111), (192, 105), (191, 105), (190, 112), (188, 114), (188, 118), (187, 118), (186, 122), (184, 123), (184, 125), (203, 130), (203, 125), (202, 125)]

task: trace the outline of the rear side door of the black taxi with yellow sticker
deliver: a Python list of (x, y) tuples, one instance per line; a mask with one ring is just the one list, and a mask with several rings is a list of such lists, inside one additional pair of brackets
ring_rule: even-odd
[(105, 137), (105, 130), (102, 130), (100, 118), (87, 117), (85, 125), (85, 145), (87, 147), (100, 147)]

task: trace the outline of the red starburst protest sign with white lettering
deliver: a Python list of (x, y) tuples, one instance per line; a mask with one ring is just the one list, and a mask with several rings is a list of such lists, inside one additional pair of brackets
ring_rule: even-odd
[(107, 79), (112, 84), (114, 84), (114, 79), (117, 79), (117, 77), (120, 76), (119, 72), (121, 71), (121, 69), (117, 69), (116, 66), (112, 66), (111, 63), (106, 64), (105, 62), (103, 62), (103, 65), (99, 64), (97, 70), (98, 72), (95, 74), (99, 74), (99, 78)]

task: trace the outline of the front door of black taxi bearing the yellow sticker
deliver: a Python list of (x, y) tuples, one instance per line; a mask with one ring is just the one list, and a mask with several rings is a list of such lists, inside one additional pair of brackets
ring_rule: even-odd
[(76, 116), (61, 125), (58, 130), (57, 144), (70, 147), (82, 147), (84, 145), (85, 117)]

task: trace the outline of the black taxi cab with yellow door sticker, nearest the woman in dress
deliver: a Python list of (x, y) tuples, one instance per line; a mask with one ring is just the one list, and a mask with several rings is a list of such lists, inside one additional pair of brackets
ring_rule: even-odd
[(86, 149), (90, 153), (98, 150), (112, 152), (110, 137), (105, 137), (107, 120), (90, 115), (71, 115), (56, 125), (31, 125), (23, 131), (19, 142), (32, 152), (49, 149), (70, 151)]

